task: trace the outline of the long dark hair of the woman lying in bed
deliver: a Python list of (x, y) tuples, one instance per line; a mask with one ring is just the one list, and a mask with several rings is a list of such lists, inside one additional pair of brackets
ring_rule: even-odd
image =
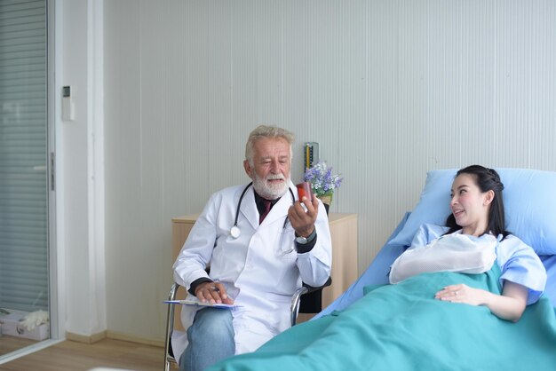
[[(490, 190), (494, 192), (494, 199), (490, 203), (490, 209), (488, 210), (488, 226), (485, 233), (491, 232), (495, 236), (501, 233), (505, 238), (510, 233), (504, 229), (504, 199), (502, 197), (504, 185), (500, 181), (500, 176), (496, 170), (487, 169), (481, 165), (471, 165), (458, 170), (456, 178), (461, 174), (473, 175), (475, 184), (481, 189), (481, 192), (484, 193)], [(454, 214), (449, 215), (446, 225), (449, 226), (448, 233), (454, 233), (461, 229), (461, 226), (456, 224)]]

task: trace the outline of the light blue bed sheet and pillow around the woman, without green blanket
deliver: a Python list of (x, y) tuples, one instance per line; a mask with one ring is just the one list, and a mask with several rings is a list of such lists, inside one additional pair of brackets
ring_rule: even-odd
[[(544, 295), (556, 306), (556, 172), (528, 169), (496, 169), (504, 184), (507, 230), (536, 251), (548, 274)], [(420, 201), (402, 217), (377, 257), (346, 292), (315, 318), (346, 308), (363, 295), (369, 285), (388, 283), (393, 261), (410, 244), (417, 228), (425, 223), (443, 225), (449, 215), (449, 190), (457, 170), (429, 171)]]

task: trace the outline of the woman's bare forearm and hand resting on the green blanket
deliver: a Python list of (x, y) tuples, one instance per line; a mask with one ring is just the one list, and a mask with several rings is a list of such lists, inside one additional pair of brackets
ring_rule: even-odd
[(527, 306), (527, 296), (528, 288), (506, 280), (502, 295), (461, 284), (442, 288), (434, 297), (452, 303), (485, 305), (496, 317), (517, 322)]

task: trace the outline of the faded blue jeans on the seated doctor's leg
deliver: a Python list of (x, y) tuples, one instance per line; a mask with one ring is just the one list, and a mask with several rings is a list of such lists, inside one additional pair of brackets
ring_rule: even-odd
[(180, 371), (203, 371), (235, 353), (232, 311), (203, 308), (187, 328), (187, 348), (179, 359)]

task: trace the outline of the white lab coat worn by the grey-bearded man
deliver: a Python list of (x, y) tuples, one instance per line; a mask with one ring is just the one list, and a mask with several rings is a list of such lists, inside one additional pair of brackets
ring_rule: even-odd
[[(332, 254), (328, 217), (322, 202), (315, 223), (314, 248), (305, 254), (295, 250), (284, 254), (295, 243), (290, 223), (283, 228), (293, 202), (290, 191), (258, 225), (258, 209), (250, 186), (237, 220), (241, 235), (234, 239), (230, 229), (244, 188), (233, 186), (212, 194), (173, 265), (174, 280), (188, 290), (193, 281), (208, 276), (204, 269), (210, 262), (210, 279), (223, 283), (239, 306), (232, 310), (236, 354), (255, 351), (289, 328), (291, 296), (301, 287), (302, 280), (315, 287), (324, 284), (330, 276)], [(290, 189), (297, 200), (298, 192), (291, 182)], [(194, 306), (183, 307), (184, 328), (193, 323), (196, 310)]]

